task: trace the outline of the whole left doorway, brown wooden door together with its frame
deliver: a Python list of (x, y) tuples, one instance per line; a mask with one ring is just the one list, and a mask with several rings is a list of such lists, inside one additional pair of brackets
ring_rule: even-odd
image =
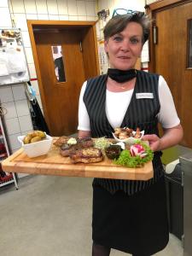
[(96, 22), (28, 20), (28, 27), (50, 134), (73, 134), (81, 86), (99, 74)]

